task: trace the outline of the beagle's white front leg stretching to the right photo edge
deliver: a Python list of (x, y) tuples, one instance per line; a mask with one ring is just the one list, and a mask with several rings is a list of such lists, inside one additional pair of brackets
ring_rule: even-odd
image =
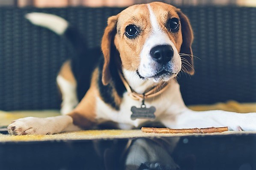
[[(170, 119), (168, 119), (168, 116)], [(175, 116), (167, 115), (163, 120), (170, 128), (205, 128), (228, 126), (229, 130), (255, 131), (256, 113), (235, 113), (229, 111), (192, 111), (186, 109)]]

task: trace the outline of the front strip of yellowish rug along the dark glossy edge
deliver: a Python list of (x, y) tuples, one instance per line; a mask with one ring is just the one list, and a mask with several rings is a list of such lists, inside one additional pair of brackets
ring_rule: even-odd
[(94, 139), (120, 139), (120, 138), (151, 138), (151, 137), (182, 137), (182, 136), (211, 136), (211, 135), (246, 135), (256, 132), (221, 132), (208, 134), (153, 134), (144, 133), (141, 130), (82, 130), (78, 132), (61, 133), (55, 135), (1, 135), (0, 142), (20, 141), (66, 141), (66, 140), (94, 140)]

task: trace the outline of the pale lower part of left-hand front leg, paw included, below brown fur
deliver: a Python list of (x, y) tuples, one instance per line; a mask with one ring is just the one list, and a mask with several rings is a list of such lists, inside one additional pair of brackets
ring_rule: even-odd
[(60, 132), (79, 130), (74, 126), (71, 116), (25, 117), (12, 121), (8, 126), (11, 135), (49, 135)]

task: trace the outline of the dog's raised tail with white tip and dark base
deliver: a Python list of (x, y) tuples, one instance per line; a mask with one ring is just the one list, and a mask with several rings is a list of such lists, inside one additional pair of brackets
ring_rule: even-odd
[(32, 12), (25, 15), (28, 21), (36, 26), (42, 26), (58, 35), (65, 37), (74, 47), (78, 55), (86, 53), (86, 41), (83, 36), (74, 27), (70, 26), (68, 21), (57, 15)]

